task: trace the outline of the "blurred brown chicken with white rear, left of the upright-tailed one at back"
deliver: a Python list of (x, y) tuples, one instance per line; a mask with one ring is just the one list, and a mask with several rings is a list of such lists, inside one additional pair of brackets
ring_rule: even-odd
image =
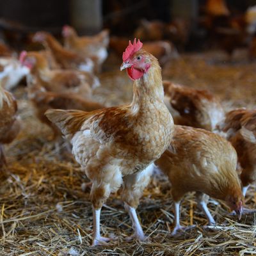
[(65, 49), (50, 33), (37, 32), (33, 36), (33, 41), (43, 44), (45, 49), (51, 51), (61, 68), (93, 72), (93, 61), (88, 56)]

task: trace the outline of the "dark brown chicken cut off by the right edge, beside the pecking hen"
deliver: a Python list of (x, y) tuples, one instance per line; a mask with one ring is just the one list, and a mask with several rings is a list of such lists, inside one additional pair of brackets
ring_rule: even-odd
[(256, 182), (256, 110), (234, 109), (228, 112), (216, 131), (224, 134), (236, 148), (245, 196), (250, 184)]

